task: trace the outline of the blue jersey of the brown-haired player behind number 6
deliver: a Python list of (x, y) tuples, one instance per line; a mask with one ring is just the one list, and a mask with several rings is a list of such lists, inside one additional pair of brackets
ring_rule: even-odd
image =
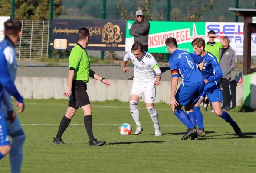
[[(192, 56), (197, 55), (193, 52)], [(205, 59), (202, 71), (203, 79), (207, 79), (209, 83), (218, 83), (223, 76), (223, 73), (220, 68), (220, 64), (217, 61), (217, 58), (210, 52), (207, 52), (207, 54), (204, 55), (203, 58)]]

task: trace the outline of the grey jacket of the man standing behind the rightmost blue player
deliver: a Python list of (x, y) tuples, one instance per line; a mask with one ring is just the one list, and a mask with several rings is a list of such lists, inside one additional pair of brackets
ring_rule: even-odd
[(220, 68), (223, 73), (222, 78), (231, 78), (231, 71), (236, 68), (237, 63), (236, 51), (230, 46), (227, 49), (221, 48), (220, 56)]

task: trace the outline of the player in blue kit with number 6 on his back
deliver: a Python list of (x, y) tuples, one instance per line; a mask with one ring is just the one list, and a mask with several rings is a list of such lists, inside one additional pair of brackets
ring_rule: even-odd
[[(168, 52), (171, 54), (169, 65), (171, 68), (171, 98), (169, 105), (177, 118), (187, 126), (187, 133), (181, 138), (186, 140), (197, 132), (196, 115), (193, 112), (204, 89), (204, 80), (200, 70), (203, 69), (205, 60), (200, 56), (194, 56), (187, 51), (178, 50), (177, 41), (170, 37), (165, 41)], [(200, 70), (195, 62), (198, 63)], [(177, 90), (178, 78), (183, 78), (180, 88)], [(177, 90), (177, 93), (176, 93)], [(175, 94), (176, 93), (176, 94)], [(185, 107), (184, 112), (181, 107)]]

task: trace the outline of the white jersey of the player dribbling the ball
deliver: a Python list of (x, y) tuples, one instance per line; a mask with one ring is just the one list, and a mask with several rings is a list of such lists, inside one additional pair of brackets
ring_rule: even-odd
[(156, 79), (153, 67), (158, 65), (154, 56), (144, 51), (143, 57), (137, 59), (132, 52), (128, 52), (124, 57), (124, 61), (129, 60), (134, 64), (134, 81), (141, 85), (153, 85)]

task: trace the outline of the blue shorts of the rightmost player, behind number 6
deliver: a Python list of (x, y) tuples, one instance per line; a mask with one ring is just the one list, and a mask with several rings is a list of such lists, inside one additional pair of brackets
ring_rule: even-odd
[(220, 89), (220, 83), (207, 83), (204, 87), (202, 97), (208, 97), (211, 103), (222, 102), (222, 90)]

